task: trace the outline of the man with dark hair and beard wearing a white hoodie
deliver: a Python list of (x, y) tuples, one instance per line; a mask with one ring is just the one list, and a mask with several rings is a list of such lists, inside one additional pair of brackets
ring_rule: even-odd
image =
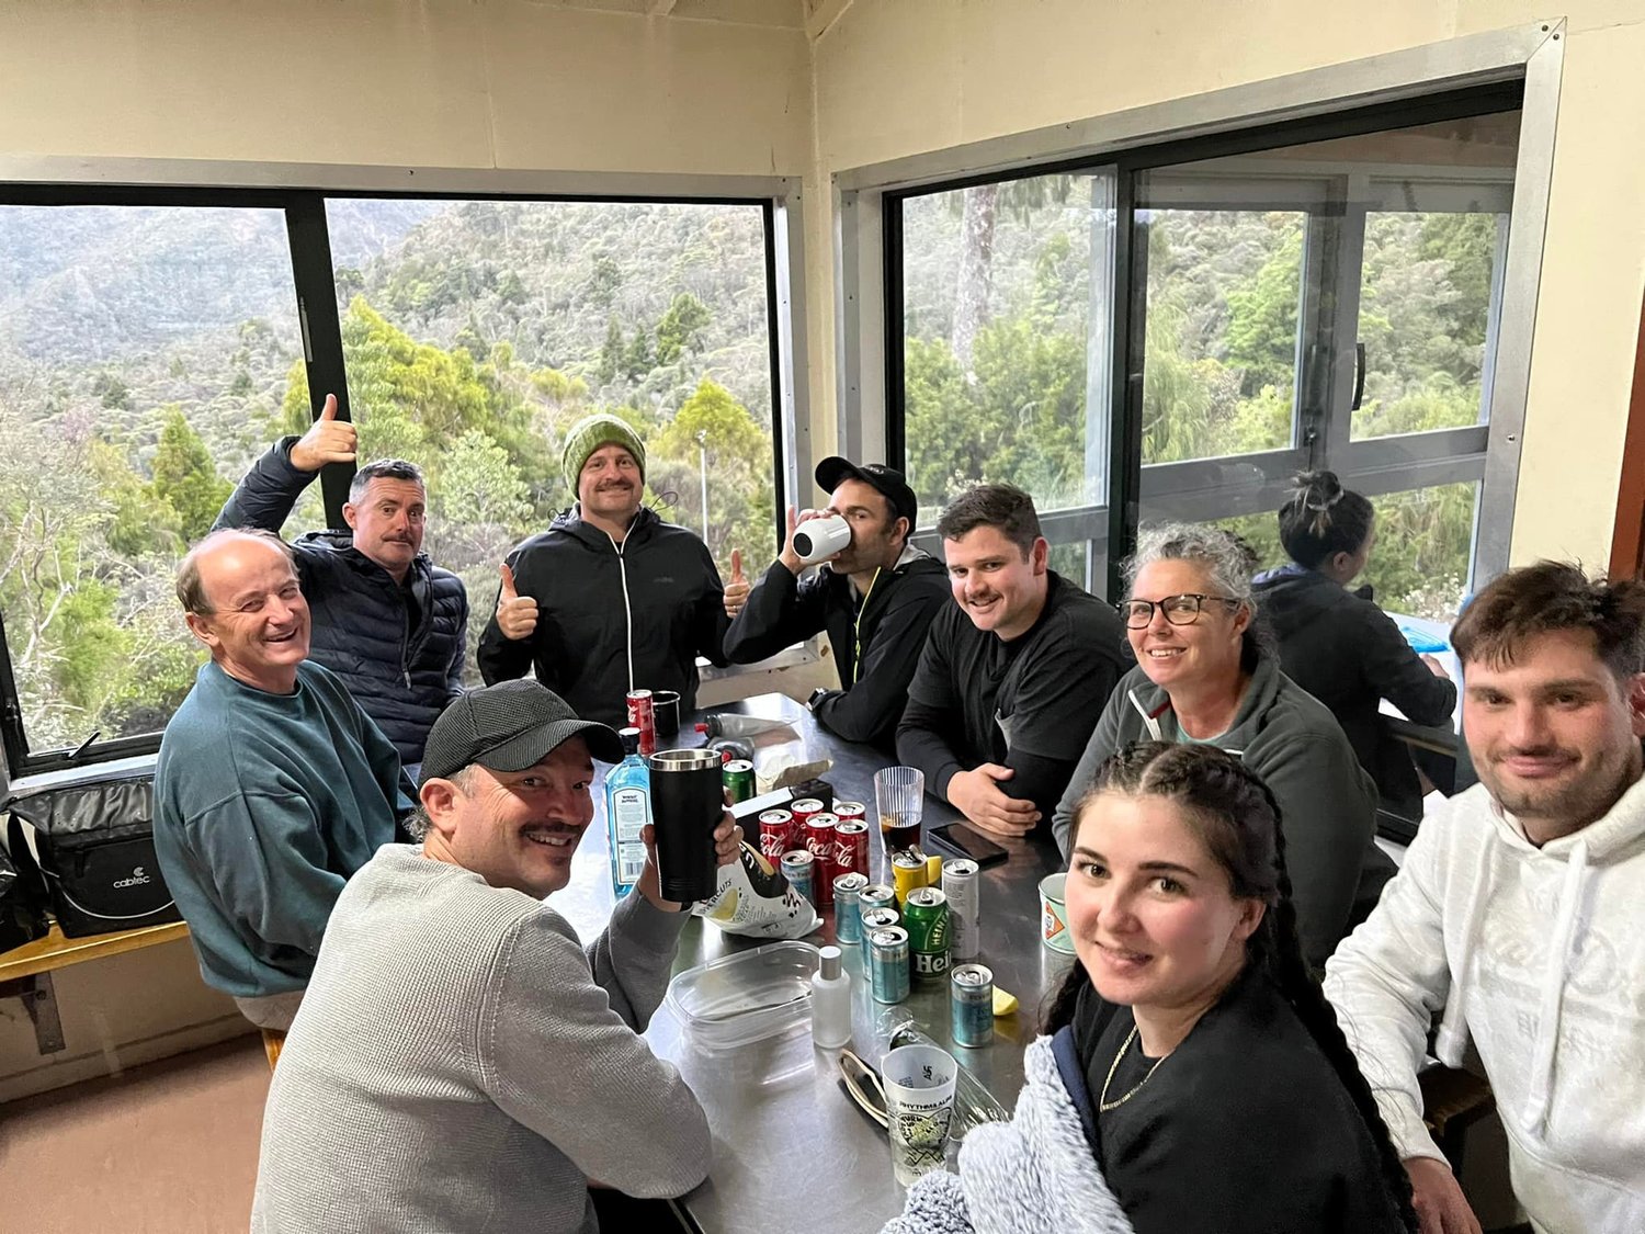
[(1545, 1234), (1645, 1231), (1645, 584), (1543, 561), (1456, 624), (1480, 783), (1428, 814), (1326, 964), (1423, 1234), (1477, 1234), (1421, 1117), (1472, 1040)]

